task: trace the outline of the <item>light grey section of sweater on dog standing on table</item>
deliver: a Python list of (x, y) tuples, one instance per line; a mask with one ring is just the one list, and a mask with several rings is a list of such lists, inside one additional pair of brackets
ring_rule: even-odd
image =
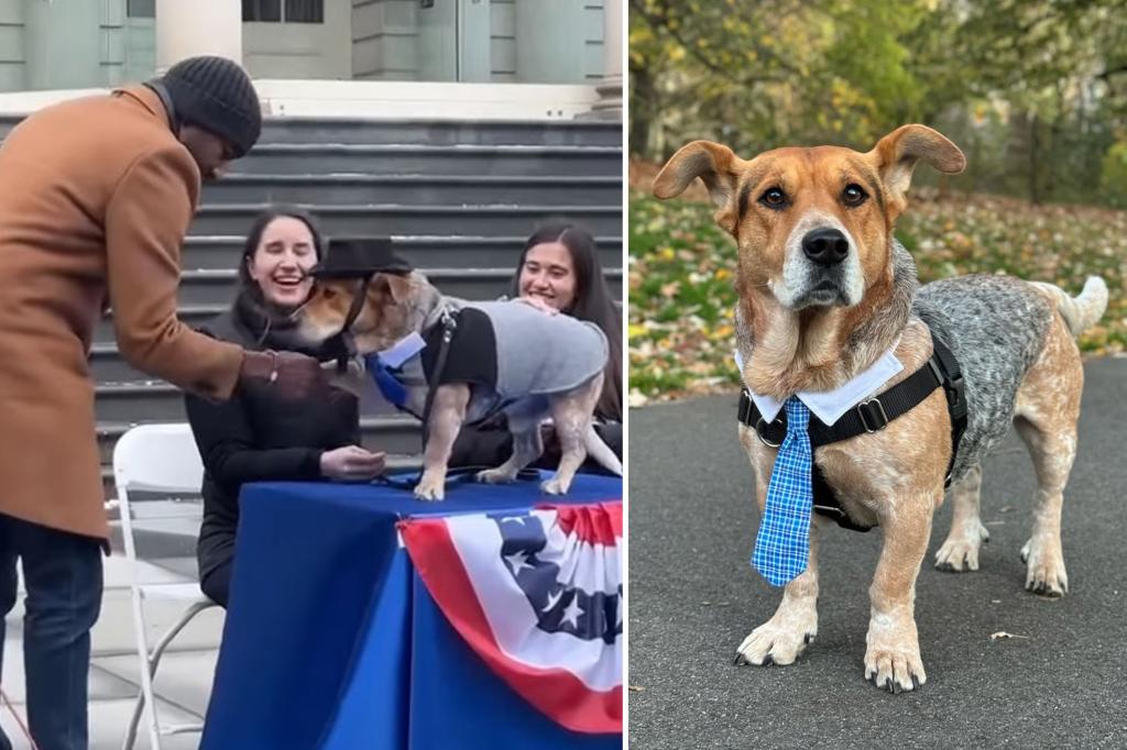
[(521, 302), (472, 302), (497, 339), (497, 393), (503, 399), (561, 393), (606, 367), (610, 347), (594, 323), (548, 313)]

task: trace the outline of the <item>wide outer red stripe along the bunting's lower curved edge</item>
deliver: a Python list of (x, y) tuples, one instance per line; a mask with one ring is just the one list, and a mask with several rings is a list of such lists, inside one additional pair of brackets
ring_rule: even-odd
[(399, 529), (427, 591), (495, 675), (561, 726), (588, 734), (622, 733), (621, 685), (592, 690), (565, 669), (530, 667), (502, 652), (442, 518), (400, 521)]

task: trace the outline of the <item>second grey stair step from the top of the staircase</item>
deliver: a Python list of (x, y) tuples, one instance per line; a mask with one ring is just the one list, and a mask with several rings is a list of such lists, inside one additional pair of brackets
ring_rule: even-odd
[[(265, 143), (232, 163), (251, 175), (491, 175), (622, 177), (619, 145)], [(224, 178), (227, 179), (227, 178)]]

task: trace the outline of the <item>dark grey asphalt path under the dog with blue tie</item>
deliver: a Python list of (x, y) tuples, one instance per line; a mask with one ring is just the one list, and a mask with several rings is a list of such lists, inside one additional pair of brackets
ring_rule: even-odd
[(822, 536), (818, 636), (798, 661), (733, 663), (780, 599), (748, 563), (758, 511), (736, 396), (632, 410), (630, 747), (1127, 748), (1127, 359), (1084, 372), (1064, 503), (1070, 592), (1023, 590), (1035, 479), (1011, 434), (984, 464), (979, 571), (932, 566), (950, 503), (937, 511), (916, 583), (928, 684), (899, 695), (863, 677), (879, 529)]

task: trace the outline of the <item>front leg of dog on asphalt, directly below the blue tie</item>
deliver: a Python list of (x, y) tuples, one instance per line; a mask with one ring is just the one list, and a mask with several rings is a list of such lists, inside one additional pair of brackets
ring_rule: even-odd
[(813, 519), (806, 570), (787, 583), (771, 619), (736, 649), (737, 664), (790, 664), (818, 634), (818, 527), (823, 523)]

